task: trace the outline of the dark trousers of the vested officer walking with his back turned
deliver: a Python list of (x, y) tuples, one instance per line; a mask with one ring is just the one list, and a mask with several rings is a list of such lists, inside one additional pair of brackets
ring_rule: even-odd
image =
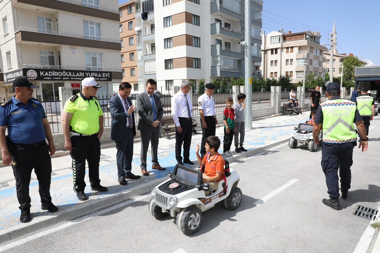
[(338, 198), (340, 196), (338, 169), (340, 187), (343, 189), (351, 188), (352, 153), (355, 146), (356, 141), (332, 145), (322, 142), (321, 165), (325, 173), (327, 193), (330, 198)]

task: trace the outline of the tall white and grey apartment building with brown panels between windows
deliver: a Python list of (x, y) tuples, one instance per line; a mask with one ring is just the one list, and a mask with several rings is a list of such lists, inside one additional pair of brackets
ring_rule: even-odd
[[(252, 63), (261, 61), (261, 0), (252, 0)], [(138, 89), (147, 79), (169, 92), (182, 80), (244, 76), (244, 1), (135, 1)], [(132, 48), (132, 47), (131, 47)], [(256, 73), (255, 73), (256, 74)]]

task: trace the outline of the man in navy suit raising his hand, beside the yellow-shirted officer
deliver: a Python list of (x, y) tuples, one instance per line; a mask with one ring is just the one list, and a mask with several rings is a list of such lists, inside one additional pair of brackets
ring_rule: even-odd
[(132, 174), (133, 138), (136, 137), (135, 110), (132, 105), (130, 83), (122, 82), (119, 92), (109, 100), (111, 111), (111, 140), (116, 142), (117, 181), (126, 185), (125, 179), (139, 179)]

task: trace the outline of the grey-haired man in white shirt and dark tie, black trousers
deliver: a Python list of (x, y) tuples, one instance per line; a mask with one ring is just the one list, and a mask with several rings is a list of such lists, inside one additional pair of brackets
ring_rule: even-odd
[(181, 149), (184, 146), (184, 163), (194, 164), (190, 160), (190, 145), (193, 129), (193, 103), (191, 94), (191, 83), (188, 80), (181, 82), (180, 90), (174, 94), (171, 113), (174, 123), (176, 124), (176, 160), (177, 163), (183, 165)]

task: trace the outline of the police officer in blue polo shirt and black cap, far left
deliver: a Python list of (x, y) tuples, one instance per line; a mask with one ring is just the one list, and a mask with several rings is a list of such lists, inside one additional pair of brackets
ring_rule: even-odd
[[(51, 203), (50, 196), (51, 156), (55, 153), (55, 146), (45, 110), (40, 101), (32, 97), (33, 89), (39, 86), (30, 82), (28, 77), (17, 77), (13, 87), (16, 95), (0, 104), (0, 148), (4, 165), (12, 164), (21, 210), (20, 222), (28, 222), (33, 168), (38, 180), (41, 209), (58, 210)], [(8, 136), (5, 136), (7, 127)]]

